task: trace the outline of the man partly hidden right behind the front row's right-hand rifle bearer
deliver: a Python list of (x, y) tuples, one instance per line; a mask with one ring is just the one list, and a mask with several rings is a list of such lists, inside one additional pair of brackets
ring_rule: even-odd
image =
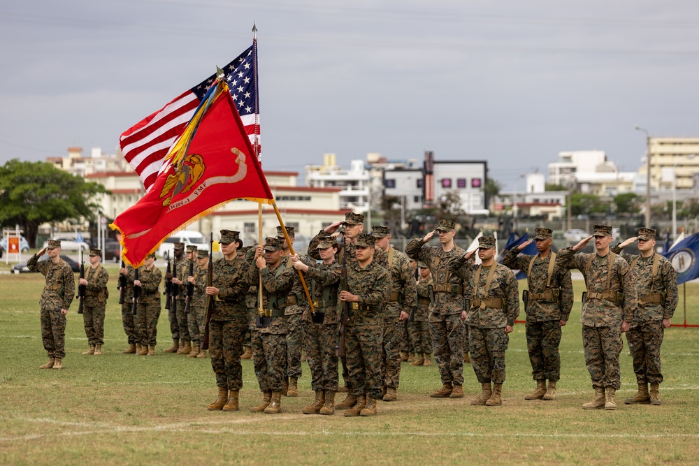
[(401, 381), (401, 342), (405, 331), (405, 322), (410, 312), (417, 305), (417, 288), (415, 270), (412, 269), (408, 256), (391, 247), (391, 228), (375, 225), (371, 235), (376, 238), (376, 249), (387, 257), (391, 274), (391, 295), (383, 312), (383, 367), (384, 367), (384, 401), (396, 401), (398, 385)]

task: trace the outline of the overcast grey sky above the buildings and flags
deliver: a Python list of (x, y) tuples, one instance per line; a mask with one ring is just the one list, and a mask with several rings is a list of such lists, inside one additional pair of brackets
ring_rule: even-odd
[[(252, 43), (263, 167), (485, 159), (512, 188), (563, 150), (635, 171), (699, 136), (699, 2), (32, 0), (0, 9), (0, 163), (116, 152)], [(519, 188), (524, 182), (519, 182)]]

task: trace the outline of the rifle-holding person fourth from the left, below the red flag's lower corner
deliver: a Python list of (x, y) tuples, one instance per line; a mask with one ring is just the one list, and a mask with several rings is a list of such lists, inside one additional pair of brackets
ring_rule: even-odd
[[(155, 253), (148, 254), (145, 263), (138, 268), (138, 280), (134, 286), (140, 286), (140, 297), (136, 307), (136, 341), (140, 342), (140, 355), (155, 356), (158, 336), (158, 319), (160, 318), (160, 282), (163, 272), (153, 265)], [(140, 284), (139, 284), (140, 282)]]

